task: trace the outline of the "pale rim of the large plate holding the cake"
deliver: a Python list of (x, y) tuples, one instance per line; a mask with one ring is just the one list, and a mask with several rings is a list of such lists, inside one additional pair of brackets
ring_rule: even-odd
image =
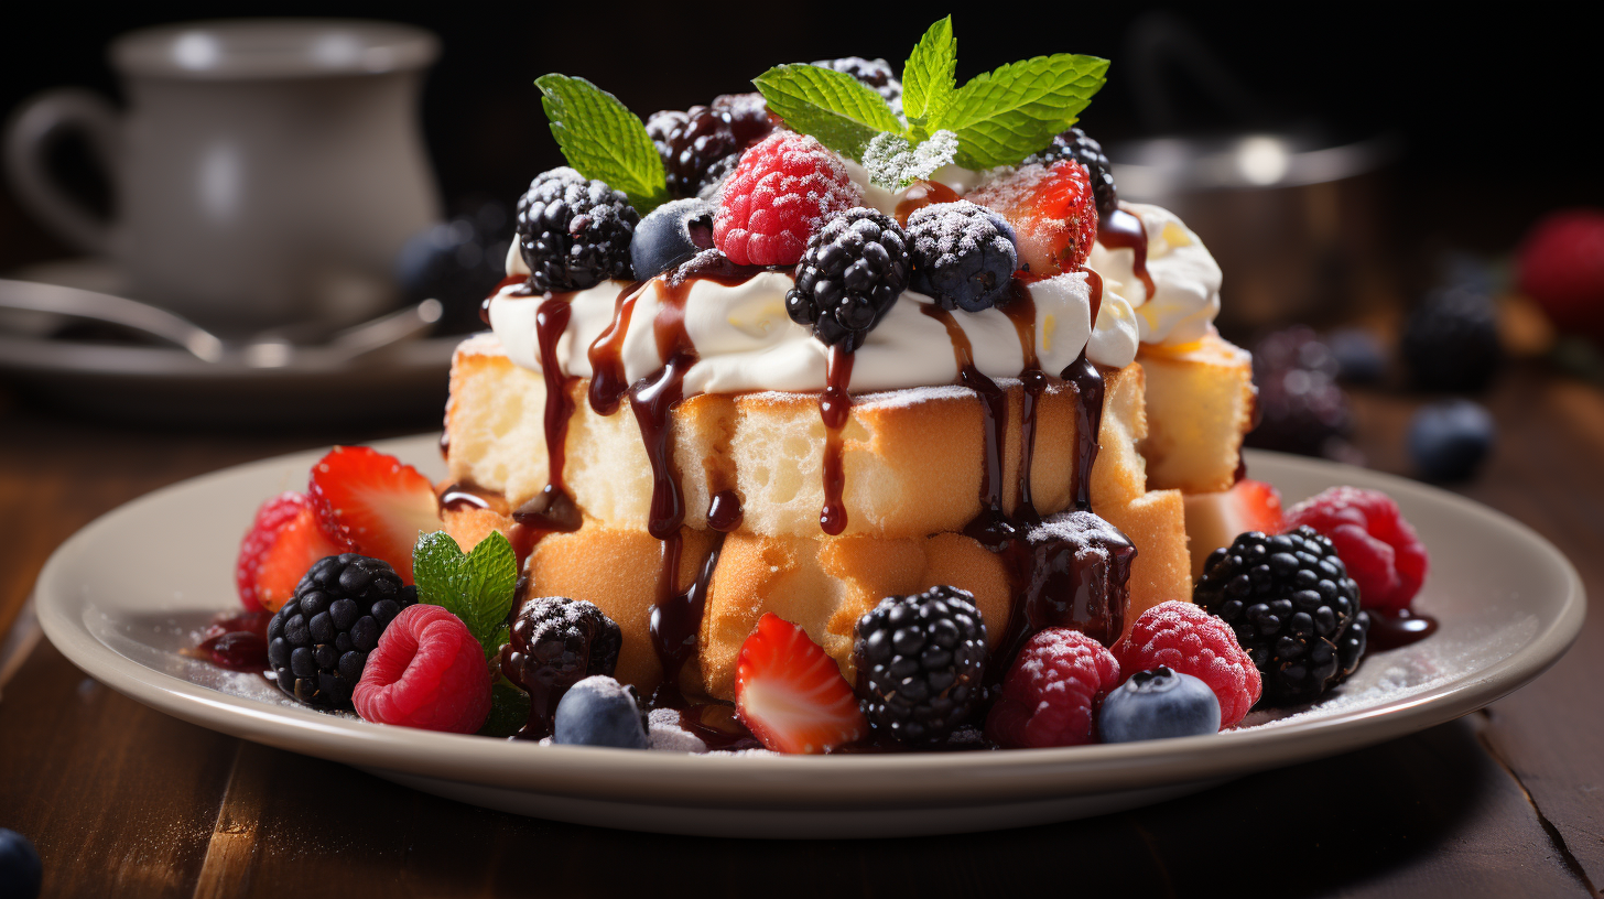
[[(415, 453), (414, 446), (436, 438), (435, 433), (422, 433), (375, 441), (374, 446)], [(1521, 689), (1564, 657), (1580, 636), (1586, 615), (1585, 588), (1575, 567), (1548, 539), (1505, 512), (1384, 472), (1250, 450), (1250, 464), (1254, 459), (1272, 461), (1275, 466), (1302, 469), (1317, 478), (1339, 478), (1343, 472), (1359, 472), (1360, 480), (1397, 491), (1394, 496), (1412, 494), (1426, 502), (1445, 502), (1461, 514), (1492, 522), (1516, 535), (1540, 555), (1546, 555), (1554, 565), (1566, 589), (1559, 612), (1546, 628), (1538, 629), (1508, 657), (1477, 668), (1455, 682), (1312, 721), (1123, 745), (824, 758), (781, 755), (731, 758), (595, 746), (537, 746), (473, 735), (395, 729), (354, 718), (268, 705), (156, 671), (117, 653), (82, 621), (74, 621), (69, 612), (82, 612), (90, 599), (74, 602), (67, 589), (69, 563), (87, 546), (93, 546), (99, 535), (114, 531), (124, 520), (138, 517), (178, 494), (204, 491), (260, 469), (281, 470), (300, 464), (302, 459), (310, 466), (321, 453), (322, 450), (306, 450), (197, 475), (132, 499), (95, 519), (56, 547), (38, 575), (34, 594), (45, 636), (87, 674), (157, 711), (234, 737), (343, 764), (541, 795), (638, 804), (850, 809), (869, 804), (884, 807), (887, 801), (895, 801), (900, 807), (953, 807), (1047, 793), (1091, 795), (1232, 777), (1352, 751), (1452, 721)], [(537, 753), (541, 761), (531, 764), (534, 759), (531, 753)], [(1264, 761), (1267, 753), (1275, 756), (1274, 761)], [(443, 771), (441, 763), (446, 759), (456, 761), (456, 767)], [(1177, 759), (1185, 759), (1185, 764), (1176, 764)], [(730, 766), (741, 766), (736, 769), (741, 777), (730, 779)], [(820, 777), (824, 771), (829, 771), (828, 779)], [(929, 779), (934, 774), (943, 775), (940, 795), (932, 795), (929, 790)], [(754, 790), (754, 783), (760, 783), (762, 790)]]

